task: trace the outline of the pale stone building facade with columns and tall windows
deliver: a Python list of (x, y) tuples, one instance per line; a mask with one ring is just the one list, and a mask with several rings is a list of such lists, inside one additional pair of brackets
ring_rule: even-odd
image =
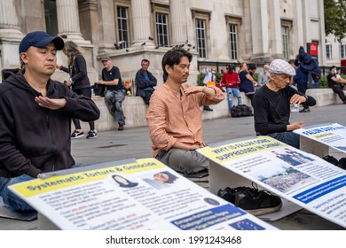
[[(124, 79), (134, 79), (147, 58), (161, 81), (162, 55), (177, 45), (193, 53), (190, 83), (201, 63), (263, 65), (295, 58), (311, 42), (327, 65), (323, 0), (0, 0), (0, 12), (0, 69), (19, 66), (20, 40), (34, 30), (78, 43), (91, 82), (105, 54)], [(62, 52), (58, 62), (67, 63)]]

